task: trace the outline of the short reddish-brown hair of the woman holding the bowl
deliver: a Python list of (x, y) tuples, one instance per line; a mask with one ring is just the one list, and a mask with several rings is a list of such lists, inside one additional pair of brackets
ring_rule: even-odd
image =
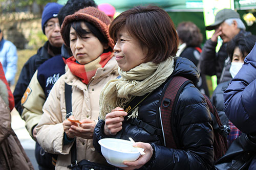
[[(110, 36), (116, 40), (117, 33), (125, 26), (129, 34), (136, 38), (142, 47), (148, 48), (147, 59), (158, 64), (170, 55), (176, 55), (178, 37), (174, 23), (168, 14), (161, 9), (154, 10), (156, 11), (151, 11), (152, 13), (139, 13), (138, 8), (125, 11), (111, 24), (109, 31)], [(159, 20), (160, 17), (163, 19)]]

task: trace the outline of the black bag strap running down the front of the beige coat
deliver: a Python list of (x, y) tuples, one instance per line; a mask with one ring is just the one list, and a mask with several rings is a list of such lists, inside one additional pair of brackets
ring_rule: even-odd
[[(72, 86), (65, 83), (65, 100), (66, 100), (66, 118), (73, 115), (72, 113)], [(77, 166), (77, 159), (76, 159), (76, 140), (71, 148), (71, 167)]]

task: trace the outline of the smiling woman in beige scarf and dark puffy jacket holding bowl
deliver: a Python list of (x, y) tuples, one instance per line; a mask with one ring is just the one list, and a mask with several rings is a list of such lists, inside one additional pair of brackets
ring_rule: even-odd
[[(110, 80), (101, 91), (95, 149), (100, 152), (98, 140), (102, 138), (132, 137), (140, 141), (134, 146), (143, 148), (145, 155), (133, 162), (124, 161), (127, 167), (123, 169), (210, 169), (214, 163), (212, 120), (203, 95), (193, 83), (184, 86), (172, 114), (179, 149), (165, 147), (161, 134), (159, 101), (168, 80), (182, 76), (195, 83), (199, 78), (191, 61), (174, 57), (178, 36), (172, 19), (156, 6), (135, 7), (112, 21), (110, 35), (116, 43), (114, 55), (121, 77)], [(147, 94), (131, 114), (124, 111), (133, 97)], [(160, 134), (147, 127), (158, 129)]]

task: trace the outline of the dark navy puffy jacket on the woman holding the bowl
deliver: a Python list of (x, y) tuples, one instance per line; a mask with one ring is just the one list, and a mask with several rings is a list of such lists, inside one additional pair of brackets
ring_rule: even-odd
[[(188, 59), (175, 58), (173, 76), (183, 76), (193, 82), (199, 79), (196, 66)], [(163, 83), (139, 105), (139, 116), (143, 122), (158, 127), (158, 103), (165, 86)], [(213, 130), (211, 117), (203, 95), (194, 86), (187, 84), (179, 96), (175, 113), (175, 127), (180, 149), (163, 146), (161, 136), (151, 135), (144, 129), (124, 121), (119, 138), (151, 143), (154, 153), (140, 169), (210, 169), (214, 163)], [(116, 136), (106, 136), (103, 132), (104, 121), (99, 120), (94, 131), (94, 147), (100, 152), (98, 140)]]

